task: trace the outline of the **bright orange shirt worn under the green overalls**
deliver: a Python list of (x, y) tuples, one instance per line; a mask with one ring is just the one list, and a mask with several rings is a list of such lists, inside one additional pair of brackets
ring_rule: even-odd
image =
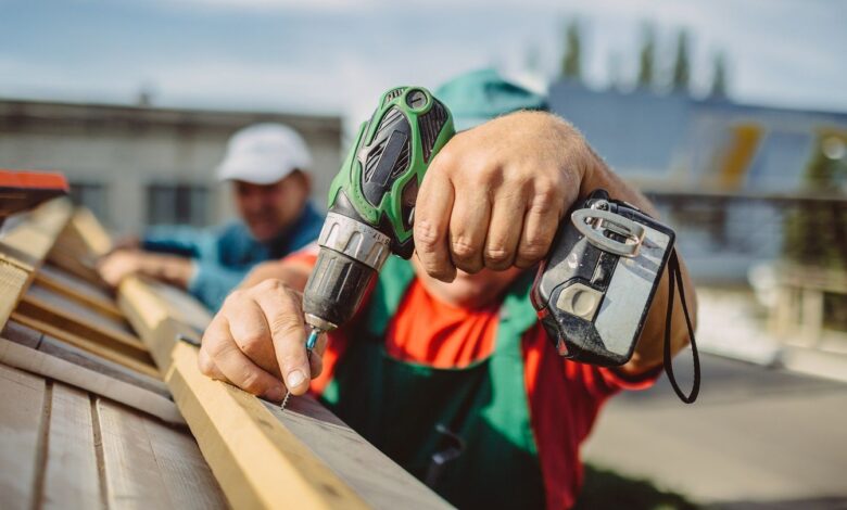
[[(314, 264), (308, 251), (292, 255)], [(465, 367), (490, 356), (500, 303), (465, 309), (438, 301), (415, 279), (385, 331), (392, 357), (440, 368)], [(320, 395), (346, 348), (343, 329), (329, 336), (324, 371), (312, 382)], [(522, 339), (524, 385), (547, 508), (570, 508), (582, 485), (580, 445), (591, 432), (603, 403), (620, 390), (648, 387), (661, 367), (627, 380), (615, 371), (559, 357), (544, 328), (536, 323)]]

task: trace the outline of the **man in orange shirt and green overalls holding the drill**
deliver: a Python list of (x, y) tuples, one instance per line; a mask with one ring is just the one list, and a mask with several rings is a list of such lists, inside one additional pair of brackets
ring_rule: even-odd
[[(200, 369), (273, 400), (311, 391), (458, 507), (568, 508), (582, 482), (580, 444), (601, 406), (648, 386), (661, 368), (668, 273), (632, 359), (606, 369), (556, 353), (530, 304), (531, 268), (565, 213), (594, 189), (655, 211), (572, 126), (543, 112), (543, 98), (493, 72), (435, 95), (467, 130), (426, 174), (412, 262), (389, 258), (356, 317), (311, 357), (298, 291), (315, 254), (278, 263), (278, 278), (265, 266), (215, 316)], [(693, 289), (684, 267), (682, 279)], [(677, 353), (688, 341), (679, 296), (673, 308)], [(462, 454), (433, 470), (447, 443)]]

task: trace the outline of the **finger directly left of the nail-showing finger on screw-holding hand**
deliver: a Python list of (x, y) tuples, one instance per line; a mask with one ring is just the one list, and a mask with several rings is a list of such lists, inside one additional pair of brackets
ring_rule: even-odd
[(262, 307), (249, 293), (238, 292), (232, 295), (239, 298), (230, 298), (225, 308), (232, 340), (251, 361), (281, 379), (270, 327)]

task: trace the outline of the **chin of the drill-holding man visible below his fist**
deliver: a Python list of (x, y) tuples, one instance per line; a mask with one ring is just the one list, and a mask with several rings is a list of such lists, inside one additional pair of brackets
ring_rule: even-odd
[(415, 272), (427, 291), (444, 303), (463, 308), (482, 308), (498, 299), (506, 288), (520, 276), (523, 269), (511, 267), (505, 271), (482, 269), (476, 275), (458, 271), (450, 283), (427, 275), (417, 257), (412, 257)]

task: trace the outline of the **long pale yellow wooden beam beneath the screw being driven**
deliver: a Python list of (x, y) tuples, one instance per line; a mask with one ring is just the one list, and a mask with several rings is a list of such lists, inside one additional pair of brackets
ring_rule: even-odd
[(368, 508), (332, 470), (253, 395), (197, 368), (197, 335), (170, 318), (164, 301), (138, 278), (125, 280), (118, 306), (163, 370), (177, 407), (236, 508)]

